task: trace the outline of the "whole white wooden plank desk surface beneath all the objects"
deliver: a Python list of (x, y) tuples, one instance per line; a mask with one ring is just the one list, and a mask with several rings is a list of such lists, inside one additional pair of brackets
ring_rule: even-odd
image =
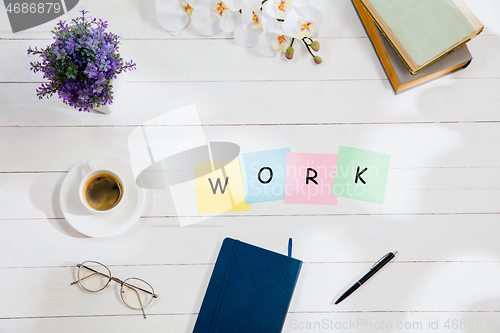
[[(39, 101), (26, 50), (49, 44), (56, 21), (13, 34), (0, 9), (0, 332), (191, 332), (224, 237), (281, 253), (293, 238), (304, 266), (284, 332), (500, 330), (500, 2), (468, 1), (486, 26), (469, 43), (469, 68), (397, 96), (352, 3), (311, 3), (326, 22), (319, 66), (299, 45), (287, 61), (225, 34), (172, 37), (153, 0), (81, 0), (137, 63), (106, 115)], [(391, 154), (385, 204), (276, 201), (181, 228), (169, 193), (151, 190), (120, 236), (72, 229), (59, 205), (68, 171), (98, 154), (128, 158), (134, 128), (189, 104), (207, 140), (242, 152)], [(331, 304), (393, 249), (391, 264)], [(70, 286), (84, 260), (150, 282), (160, 297), (148, 318), (121, 302), (116, 284), (99, 294)]]

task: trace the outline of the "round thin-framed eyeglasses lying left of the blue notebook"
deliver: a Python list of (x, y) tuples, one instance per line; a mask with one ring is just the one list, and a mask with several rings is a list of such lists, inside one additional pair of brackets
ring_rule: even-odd
[(78, 267), (78, 281), (71, 285), (78, 283), (87, 291), (97, 292), (106, 288), (111, 280), (118, 282), (121, 284), (120, 296), (123, 303), (129, 308), (141, 310), (144, 318), (146, 318), (144, 308), (151, 303), (153, 298), (158, 298), (153, 287), (146, 281), (138, 278), (128, 278), (122, 281), (111, 276), (110, 270), (99, 262), (84, 261), (76, 266)]

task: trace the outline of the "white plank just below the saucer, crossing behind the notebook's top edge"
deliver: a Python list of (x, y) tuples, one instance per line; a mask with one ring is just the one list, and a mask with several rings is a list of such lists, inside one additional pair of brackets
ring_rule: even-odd
[[(8, 252), (15, 245), (11, 239), (16, 239), (22, 251), (32, 255), (3, 256), (0, 268), (36, 271), (67, 266), (71, 258), (74, 264), (100, 260), (109, 265), (208, 265), (215, 262), (225, 237), (244, 239), (279, 253), (286, 252), (288, 237), (292, 237), (294, 255), (320, 266), (373, 264), (384, 252), (395, 249), (400, 252), (396, 262), (408, 264), (495, 263), (499, 261), (497, 221), (495, 214), (219, 216), (181, 228), (172, 217), (149, 217), (120, 236), (92, 239), (78, 234), (62, 219), (2, 220), (2, 252)], [(23, 238), (23, 230), (39, 237), (36, 241)], [(377, 242), (372, 240), (374, 234)], [(44, 252), (38, 254), (40, 248)]]

